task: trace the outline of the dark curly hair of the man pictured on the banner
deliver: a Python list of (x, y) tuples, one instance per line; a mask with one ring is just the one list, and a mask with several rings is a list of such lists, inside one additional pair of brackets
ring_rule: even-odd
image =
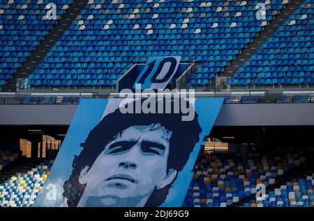
[[(142, 102), (142, 101), (141, 101)], [(135, 101), (133, 101), (133, 104)], [(172, 111), (174, 110), (174, 102), (172, 102)], [(141, 103), (142, 104), (142, 103)], [(187, 106), (190, 104), (186, 101)], [(163, 103), (165, 105), (165, 102)], [(134, 105), (135, 106), (135, 105)], [(157, 101), (156, 101), (157, 106)], [(164, 109), (165, 110), (165, 109)], [(193, 109), (194, 111), (194, 109)], [(126, 113), (122, 114), (119, 108), (103, 117), (89, 133), (89, 136), (80, 146), (83, 147), (79, 156), (75, 156), (73, 160), (73, 170), (70, 177), (63, 183), (63, 197), (67, 198), (69, 207), (75, 207), (80, 202), (80, 198), (84, 193), (85, 184), (81, 184), (78, 179), (81, 170), (89, 166), (91, 167), (98, 157), (103, 152), (105, 145), (117, 135), (130, 126), (134, 125), (149, 125), (159, 123), (169, 131), (172, 131), (170, 138), (170, 151), (167, 158), (167, 171), (170, 169), (177, 170), (179, 173), (186, 165), (190, 152), (193, 151), (195, 144), (200, 140), (199, 134), (202, 131), (198, 122), (198, 115), (195, 113), (194, 120), (182, 121), (182, 113)], [(180, 157), (178, 157), (180, 156)], [(175, 179), (174, 179), (175, 180)], [(173, 183), (173, 181), (172, 181)], [(165, 198), (169, 192), (172, 183), (165, 188), (155, 190), (147, 200), (145, 206), (155, 207), (160, 206), (165, 202)]]

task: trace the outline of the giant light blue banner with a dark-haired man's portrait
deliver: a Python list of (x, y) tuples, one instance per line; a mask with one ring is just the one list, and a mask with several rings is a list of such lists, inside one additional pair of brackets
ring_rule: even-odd
[(33, 206), (181, 206), (222, 104), (82, 99)]

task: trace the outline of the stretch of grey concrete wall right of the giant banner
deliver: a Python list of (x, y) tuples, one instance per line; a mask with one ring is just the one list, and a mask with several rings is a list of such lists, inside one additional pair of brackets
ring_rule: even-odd
[(215, 126), (314, 125), (314, 104), (224, 104)]

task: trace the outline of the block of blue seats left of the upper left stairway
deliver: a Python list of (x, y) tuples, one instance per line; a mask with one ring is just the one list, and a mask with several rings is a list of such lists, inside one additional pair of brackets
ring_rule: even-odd
[[(15, 74), (73, 0), (0, 0), (0, 85)], [(57, 6), (47, 19), (48, 3)], [(49, 15), (49, 13), (48, 13)]]

